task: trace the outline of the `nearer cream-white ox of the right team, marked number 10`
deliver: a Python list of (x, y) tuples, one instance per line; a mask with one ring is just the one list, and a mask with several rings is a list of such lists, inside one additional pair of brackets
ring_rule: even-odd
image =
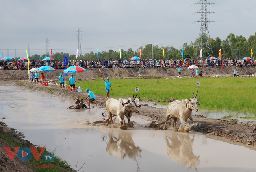
[(174, 128), (176, 128), (177, 119), (180, 119), (182, 126), (185, 127), (187, 118), (191, 115), (192, 110), (198, 111), (195, 99), (189, 99), (187, 103), (184, 100), (176, 100), (169, 103), (166, 109), (166, 121), (163, 129), (166, 129), (166, 124), (170, 115), (173, 116)]

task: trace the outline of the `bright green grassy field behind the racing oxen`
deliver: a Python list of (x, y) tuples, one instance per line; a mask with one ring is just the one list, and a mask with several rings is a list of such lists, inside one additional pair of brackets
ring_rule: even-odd
[[(256, 78), (181, 78), (181, 79), (110, 79), (113, 91), (110, 97), (128, 98), (135, 95), (143, 100), (169, 102), (173, 99), (191, 98), (196, 93), (199, 81), (198, 97), (200, 108), (226, 109), (256, 114), (255, 86)], [(78, 81), (78, 86), (89, 88), (93, 93), (106, 95), (102, 79)]]

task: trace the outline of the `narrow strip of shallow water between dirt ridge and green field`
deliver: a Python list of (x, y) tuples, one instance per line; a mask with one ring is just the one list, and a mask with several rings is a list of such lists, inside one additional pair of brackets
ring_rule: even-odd
[[(167, 105), (158, 104), (158, 102), (142, 102), (142, 104), (148, 104), (148, 106), (155, 107), (155, 108), (167, 108)], [(213, 118), (213, 119), (223, 119), (224, 117), (228, 117), (230, 119), (237, 119), (239, 122), (247, 122), (253, 121), (256, 122), (256, 117), (252, 113), (248, 112), (234, 112), (228, 110), (207, 110), (201, 109), (198, 106), (199, 111), (192, 112), (192, 115), (203, 115), (204, 117)]]

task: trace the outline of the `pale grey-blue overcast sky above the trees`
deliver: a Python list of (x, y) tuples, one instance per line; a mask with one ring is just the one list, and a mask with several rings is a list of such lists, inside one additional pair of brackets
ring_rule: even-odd
[[(46, 53), (76, 54), (78, 28), (82, 31), (82, 54), (136, 51), (154, 44), (182, 45), (199, 36), (199, 0), (2, 0), (0, 1), (0, 51), (15, 58)], [(249, 38), (256, 32), (255, 0), (210, 0), (208, 23), (211, 38), (228, 34)]]

